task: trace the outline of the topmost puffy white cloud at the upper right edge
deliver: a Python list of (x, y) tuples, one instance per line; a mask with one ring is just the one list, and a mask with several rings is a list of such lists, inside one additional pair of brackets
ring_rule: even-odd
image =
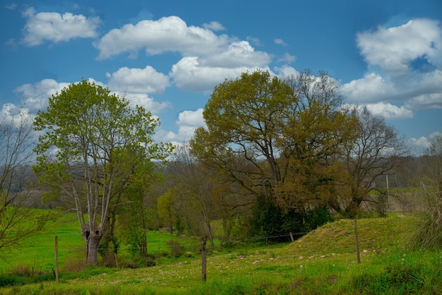
[(394, 28), (361, 32), (357, 46), (369, 65), (393, 75), (407, 73), (410, 61), (419, 57), (442, 66), (442, 30), (436, 20), (415, 19)]

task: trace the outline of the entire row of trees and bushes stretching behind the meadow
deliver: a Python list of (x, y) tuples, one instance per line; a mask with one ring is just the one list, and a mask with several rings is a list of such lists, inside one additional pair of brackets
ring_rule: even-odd
[(39, 213), (18, 231), (35, 214), (23, 201), (35, 192), (30, 177), (44, 203), (76, 212), (90, 265), (121, 243), (148, 255), (151, 229), (207, 237), (213, 247), (215, 238), (309, 231), (367, 208), (384, 216), (395, 187), (425, 184), (441, 197), (441, 137), (412, 157), (394, 126), (345, 104), (324, 71), (243, 73), (215, 87), (203, 117), (189, 143), (157, 143), (150, 112), (83, 80), (49, 97), (33, 121), (2, 122), (0, 249), (52, 218)]

